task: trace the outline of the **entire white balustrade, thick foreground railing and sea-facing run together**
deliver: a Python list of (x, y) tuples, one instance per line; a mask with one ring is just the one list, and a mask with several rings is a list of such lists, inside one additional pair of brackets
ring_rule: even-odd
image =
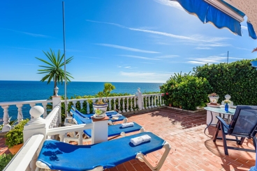
[[(76, 106), (76, 108), (85, 109), (86, 113), (94, 112), (91, 108), (91, 104), (98, 100), (98, 98), (89, 99), (68, 99), (68, 104)], [(52, 103), (52, 111), (47, 115), (46, 105), (47, 103)], [(79, 124), (69, 127), (59, 127), (61, 121), (61, 97), (53, 97), (52, 100), (39, 100), (39, 101), (15, 101), (15, 102), (5, 102), (0, 103), (0, 106), (4, 109), (4, 123), (7, 125), (9, 122), (8, 117), (8, 106), (16, 105), (18, 108), (18, 119), (22, 120), (22, 106), (23, 104), (29, 104), (31, 107), (36, 104), (42, 104), (44, 110), (43, 113), (38, 113), (38, 111), (31, 112), (31, 120), (28, 125), (24, 127), (24, 145), (22, 149), (15, 155), (12, 161), (6, 166), (5, 170), (38, 170), (36, 168), (36, 159), (38, 157), (38, 152), (41, 150), (42, 142), (46, 138), (53, 138), (54, 135), (59, 135), (60, 141), (64, 142), (66, 133), (68, 132), (78, 132), (78, 144), (82, 145), (83, 138), (82, 133), (85, 129), (92, 130), (105, 130), (106, 140), (107, 140), (107, 121), (106, 129), (99, 129), (96, 127), (98, 124)], [(120, 113), (125, 113), (129, 111), (137, 111), (143, 109), (151, 109), (158, 106), (164, 106), (163, 98), (160, 94), (154, 95), (142, 95), (139, 91), (137, 95), (132, 96), (122, 96), (122, 97), (108, 97), (108, 108), (109, 110), (117, 110)], [(34, 107), (36, 108), (36, 107)], [(32, 110), (33, 111), (33, 110)], [(41, 117), (43, 115), (44, 117)], [(45, 118), (45, 119), (44, 119)], [(101, 126), (103, 127), (103, 126)], [(97, 131), (92, 131), (92, 143), (98, 142)]]

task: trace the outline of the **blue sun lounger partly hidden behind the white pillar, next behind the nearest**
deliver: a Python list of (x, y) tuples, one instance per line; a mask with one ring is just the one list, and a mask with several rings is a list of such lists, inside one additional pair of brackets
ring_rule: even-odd
[[(91, 118), (84, 118), (78, 115), (78, 113), (73, 113), (73, 120), (77, 122), (76, 124), (89, 124), (92, 122)], [(133, 131), (145, 131), (145, 129), (140, 126), (139, 124), (133, 122), (134, 126), (133, 127), (126, 127), (122, 128), (122, 124), (115, 124), (115, 125), (110, 125), (108, 126), (108, 137), (110, 136), (118, 136), (122, 135), (124, 136), (125, 133), (130, 133)], [(91, 137), (91, 129), (84, 130), (84, 133)]]

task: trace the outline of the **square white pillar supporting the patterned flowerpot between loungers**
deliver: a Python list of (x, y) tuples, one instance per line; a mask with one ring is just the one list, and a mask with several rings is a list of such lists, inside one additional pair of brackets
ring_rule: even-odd
[(93, 129), (92, 129), (92, 144), (104, 142), (108, 140), (108, 120), (109, 117), (99, 120), (92, 117)]

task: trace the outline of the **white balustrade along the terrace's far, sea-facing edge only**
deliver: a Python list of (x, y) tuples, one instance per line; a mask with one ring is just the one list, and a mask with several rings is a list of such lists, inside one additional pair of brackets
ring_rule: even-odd
[[(108, 97), (108, 111), (116, 110), (119, 113), (126, 113), (131, 111), (140, 111), (144, 109), (151, 109), (158, 106), (164, 106), (164, 101), (162, 99), (161, 93), (160, 94), (153, 94), (153, 95), (142, 95), (141, 99), (142, 102), (138, 101), (138, 95), (131, 95), (131, 96), (119, 96), (119, 97)], [(76, 108), (82, 110), (84, 109), (85, 113), (94, 113), (94, 108), (92, 104), (97, 101), (98, 98), (88, 98), (88, 99), (68, 99), (67, 103), (69, 105), (73, 105)], [(22, 114), (22, 106), (25, 104), (29, 104), (30, 107), (35, 106), (36, 104), (43, 106), (45, 112), (43, 113), (43, 117), (47, 116), (47, 104), (52, 104), (52, 99), (45, 99), (45, 100), (34, 100), (34, 101), (10, 101), (10, 102), (0, 102), (1, 108), (3, 108), (3, 129), (2, 131), (9, 131), (10, 125), (10, 117), (8, 113), (8, 108), (10, 106), (17, 107), (17, 120), (20, 122), (23, 120)], [(61, 100), (61, 103), (64, 103), (64, 100)], [(53, 104), (54, 105), (54, 104)], [(61, 115), (59, 111), (59, 115)], [(55, 116), (55, 120), (57, 116)], [(61, 120), (58, 121), (61, 123)], [(52, 123), (52, 125), (56, 125), (56, 123)]]

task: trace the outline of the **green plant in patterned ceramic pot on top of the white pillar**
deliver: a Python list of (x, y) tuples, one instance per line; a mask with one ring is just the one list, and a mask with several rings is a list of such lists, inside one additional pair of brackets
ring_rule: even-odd
[[(108, 107), (107, 97), (110, 95), (110, 92), (112, 90), (115, 90), (115, 86), (113, 86), (112, 83), (105, 83), (103, 91), (97, 93), (97, 96), (99, 99), (98, 99), (98, 101), (94, 102), (94, 104), (93, 104), (95, 118), (105, 117), (105, 112)], [(104, 100), (103, 100), (103, 97), (105, 97)]]

